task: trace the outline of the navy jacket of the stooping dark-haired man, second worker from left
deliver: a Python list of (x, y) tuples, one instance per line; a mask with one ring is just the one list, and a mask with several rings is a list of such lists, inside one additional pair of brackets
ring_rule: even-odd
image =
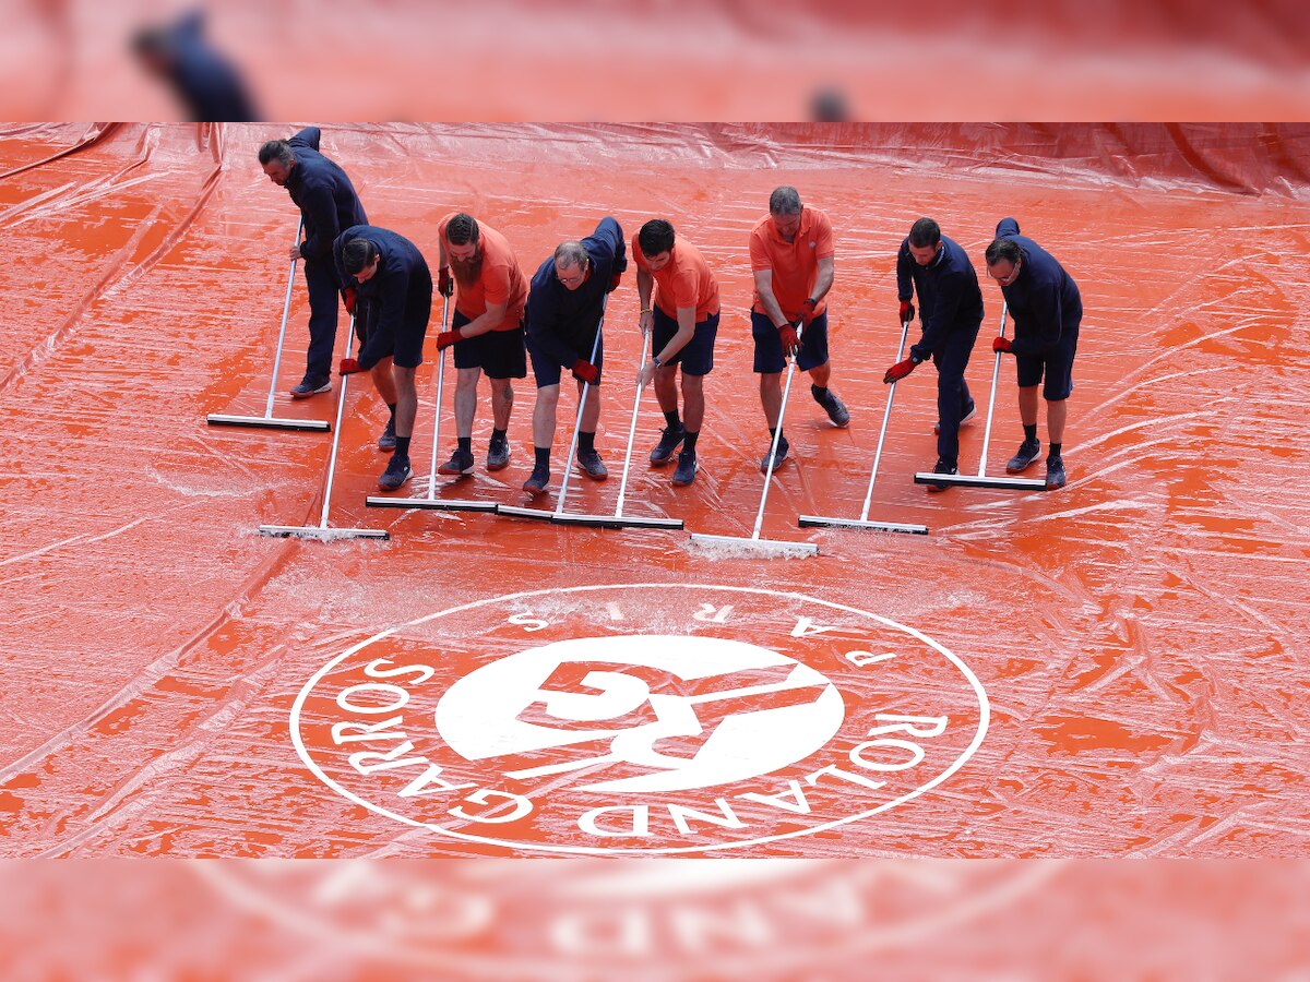
[[(364, 283), (346, 272), (342, 263), (342, 250), (352, 238), (365, 238), (377, 247), (377, 270)], [(359, 350), (359, 367), (368, 371), (396, 348), (396, 338), (405, 326), (405, 309), (410, 297), (410, 278), (427, 278), (432, 274), (427, 261), (413, 242), (384, 228), (375, 225), (354, 225), (342, 232), (333, 244), (333, 257), (337, 261), (337, 276), (347, 287), (358, 291), (356, 316), (367, 310), (368, 336)]]

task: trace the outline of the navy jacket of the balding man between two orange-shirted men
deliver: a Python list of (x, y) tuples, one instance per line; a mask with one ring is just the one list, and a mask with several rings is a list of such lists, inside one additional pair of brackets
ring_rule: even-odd
[(541, 263), (528, 289), (528, 339), (566, 367), (591, 357), (609, 283), (627, 268), (624, 229), (612, 217), (601, 219), (582, 247), (591, 258), (591, 275), (578, 289), (569, 289), (555, 276), (553, 255)]

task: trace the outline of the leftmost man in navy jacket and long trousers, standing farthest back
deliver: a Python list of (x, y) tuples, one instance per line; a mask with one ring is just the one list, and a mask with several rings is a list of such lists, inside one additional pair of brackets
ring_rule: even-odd
[[(259, 165), (269, 179), (286, 187), (300, 208), (305, 241), (291, 246), (292, 259), (305, 262), (305, 285), (309, 288), (309, 351), (305, 377), (291, 390), (292, 398), (307, 399), (331, 389), (331, 350), (337, 343), (337, 292), (345, 283), (337, 279), (333, 242), (354, 225), (367, 225), (368, 216), (359, 203), (354, 185), (335, 162), (318, 152), (321, 132), (317, 126), (301, 130), (290, 140), (269, 140), (259, 148)], [(354, 297), (346, 293), (346, 310), (354, 313)], [(396, 446), (396, 393), (390, 376), (379, 388), (392, 407), (392, 422), (377, 445)]]

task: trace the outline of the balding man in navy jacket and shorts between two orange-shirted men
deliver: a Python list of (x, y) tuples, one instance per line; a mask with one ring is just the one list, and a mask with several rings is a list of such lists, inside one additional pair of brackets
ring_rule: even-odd
[(596, 450), (604, 354), (601, 317), (605, 295), (618, 287), (626, 268), (624, 229), (607, 216), (580, 242), (561, 242), (532, 278), (525, 330), (537, 380), (537, 405), (532, 411), (536, 460), (532, 475), (523, 484), (532, 495), (540, 495), (550, 483), (550, 448), (563, 368), (578, 381), (578, 397), (582, 398), (584, 389), (587, 395), (578, 429), (578, 466), (593, 481), (604, 481), (609, 474)]

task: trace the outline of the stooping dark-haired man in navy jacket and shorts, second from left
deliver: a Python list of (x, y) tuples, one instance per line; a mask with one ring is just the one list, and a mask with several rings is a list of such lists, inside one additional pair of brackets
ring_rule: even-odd
[(358, 291), (356, 357), (341, 360), (341, 373), (372, 372), (379, 391), (388, 376), (396, 391), (392, 419), (396, 452), (377, 479), (392, 491), (410, 478), (409, 444), (418, 411), (415, 369), (423, 364), (423, 338), (432, 316), (432, 274), (407, 238), (372, 225), (355, 225), (333, 244), (342, 282)]

